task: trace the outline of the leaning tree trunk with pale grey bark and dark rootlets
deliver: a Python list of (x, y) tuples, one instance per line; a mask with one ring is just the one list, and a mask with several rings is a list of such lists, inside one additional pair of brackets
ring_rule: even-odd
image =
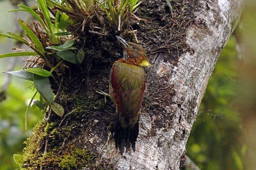
[[(64, 150), (71, 143), (76, 148), (93, 153), (91, 164), (83, 164), (84, 170), (99, 167), (117, 170), (178, 170), (184, 164), (186, 142), (208, 79), (239, 21), (242, 1), (171, 1), (171, 10), (166, 0), (143, 0), (136, 15), (147, 19), (147, 22), (131, 25), (137, 29), (138, 39), (148, 47), (146, 51), (153, 64), (145, 69), (147, 88), (136, 151), (129, 150), (121, 156), (115, 149), (111, 133), (115, 108), (109, 99), (104, 105), (104, 97), (95, 92), (107, 91), (111, 63), (93, 67), (93, 63), (100, 59), (97, 58), (92, 62), (91, 71), (86, 74), (85, 80), (79, 76), (73, 82), (71, 80), (70, 84), (65, 84), (64, 80), (63, 86), (67, 91), (59, 101), (64, 103), (65, 110), (76, 110), (65, 120), (59, 121), (58, 127), (72, 126), (69, 131), (72, 135), (58, 139), (51, 127), (42, 125), (48, 130), (48, 137), (39, 137), (43, 141), (39, 147), (44, 150), (43, 157), (46, 158), (46, 153), (50, 153), (52, 147), (49, 144), (59, 143), (59, 149)], [(178, 7), (185, 11), (177, 13)], [(167, 23), (169, 25), (163, 26)], [(82, 84), (84, 81), (87, 85)], [(44, 132), (47, 131), (45, 129)], [(63, 133), (62, 136), (66, 135), (63, 129), (58, 129)], [(29, 147), (33, 140), (38, 139), (36, 134), (40, 132), (42, 130), (36, 127), (35, 139), (30, 137), (27, 141)], [(28, 146), (25, 152), (30, 152)], [(70, 152), (68, 150), (63, 154)]]

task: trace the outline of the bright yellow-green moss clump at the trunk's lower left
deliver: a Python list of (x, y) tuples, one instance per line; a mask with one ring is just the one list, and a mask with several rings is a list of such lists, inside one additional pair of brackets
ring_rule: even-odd
[[(23, 167), (27, 170), (54, 169), (76, 170), (90, 167), (93, 154), (84, 150), (74, 138), (72, 127), (62, 127), (56, 123), (38, 122), (34, 127), (34, 134), (25, 144)], [(70, 142), (66, 140), (71, 138)], [(47, 142), (46, 142), (47, 141)], [(67, 142), (67, 144), (64, 144)], [(47, 143), (47, 152), (44, 153)]]

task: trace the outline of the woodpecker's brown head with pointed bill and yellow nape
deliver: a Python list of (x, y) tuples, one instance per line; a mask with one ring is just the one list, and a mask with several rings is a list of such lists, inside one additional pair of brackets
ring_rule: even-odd
[(116, 38), (122, 43), (124, 48), (124, 62), (131, 62), (134, 65), (139, 66), (150, 66), (151, 64), (148, 61), (148, 57), (145, 53), (144, 48), (142, 48), (139, 44), (134, 42), (128, 42), (122, 39), (119, 36)]

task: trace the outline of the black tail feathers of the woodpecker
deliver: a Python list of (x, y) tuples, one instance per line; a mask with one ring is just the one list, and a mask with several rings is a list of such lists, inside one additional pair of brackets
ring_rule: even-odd
[(119, 120), (117, 119), (114, 138), (116, 142), (116, 148), (119, 148), (121, 154), (124, 152), (124, 146), (126, 147), (126, 152), (129, 150), (130, 143), (133, 151), (135, 152), (135, 142), (137, 141), (138, 134), (139, 120), (134, 125), (134, 127), (122, 128)]

